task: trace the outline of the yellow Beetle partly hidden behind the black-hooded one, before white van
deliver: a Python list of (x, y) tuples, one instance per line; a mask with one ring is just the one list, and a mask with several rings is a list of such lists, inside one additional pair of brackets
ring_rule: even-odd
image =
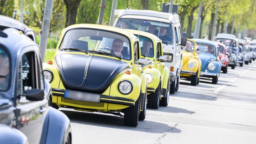
[(163, 54), (162, 40), (145, 31), (128, 31), (139, 38), (142, 58), (148, 61), (143, 65), (147, 78), (147, 106), (155, 109), (159, 106), (166, 107), (169, 102), (170, 80), (169, 69), (164, 65), (167, 56)]

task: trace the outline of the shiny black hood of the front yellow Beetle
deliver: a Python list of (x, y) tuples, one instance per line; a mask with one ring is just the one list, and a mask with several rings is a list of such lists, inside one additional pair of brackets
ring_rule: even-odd
[(86, 54), (56, 55), (55, 61), (66, 89), (94, 93), (104, 92), (129, 67), (120, 60)]

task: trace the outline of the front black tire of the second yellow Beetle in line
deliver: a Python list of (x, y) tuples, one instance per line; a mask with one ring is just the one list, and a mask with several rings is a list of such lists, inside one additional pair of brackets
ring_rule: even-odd
[(161, 81), (159, 82), (159, 85), (157, 86), (155, 92), (148, 95), (147, 107), (153, 108), (153, 109), (159, 108), (160, 96), (161, 96)]

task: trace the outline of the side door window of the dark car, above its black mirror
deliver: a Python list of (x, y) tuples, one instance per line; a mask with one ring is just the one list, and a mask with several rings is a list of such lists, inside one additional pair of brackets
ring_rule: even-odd
[[(18, 95), (26, 94), (27, 90), (44, 89), (41, 64), (34, 51), (21, 56), (18, 63)], [(22, 100), (22, 99), (21, 99)], [(23, 99), (24, 100), (24, 99)]]

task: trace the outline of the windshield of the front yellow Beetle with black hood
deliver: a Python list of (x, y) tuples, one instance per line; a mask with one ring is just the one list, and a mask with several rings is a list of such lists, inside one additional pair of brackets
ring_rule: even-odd
[(62, 40), (59, 50), (131, 59), (130, 41), (126, 36), (98, 29), (69, 30)]

